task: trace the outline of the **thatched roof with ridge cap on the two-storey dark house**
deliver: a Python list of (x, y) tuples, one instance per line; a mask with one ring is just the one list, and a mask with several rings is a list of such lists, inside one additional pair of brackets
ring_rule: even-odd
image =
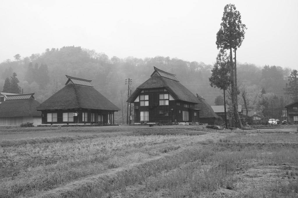
[(151, 74), (151, 77), (136, 88), (134, 93), (128, 98), (127, 102), (134, 102), (136, 97), (138, 97), (138, 95), (144, 89), (164, 88), (173, 96), (175, 100), (181, 100), (195, 104), (199, 103), (195, 95), (193, 95), (190, 90), (184, 87), (174, 74), (164, 72), (157, 69), (156, 67), (154, 67), (154, 70), (155, 71)]

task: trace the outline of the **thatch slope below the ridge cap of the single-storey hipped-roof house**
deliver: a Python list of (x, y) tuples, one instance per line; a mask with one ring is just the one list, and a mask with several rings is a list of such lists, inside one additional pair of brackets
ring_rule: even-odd
[(65, 85), (38, 106), (37, 110), (77, 108), (120, 111), (116, 105), (93, 87), (77, 84)]

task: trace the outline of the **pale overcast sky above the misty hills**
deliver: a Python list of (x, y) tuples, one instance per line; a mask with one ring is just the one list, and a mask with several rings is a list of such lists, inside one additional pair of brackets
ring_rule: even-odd
[(0, 62), (81, 46), (117, 56), (213, 64), (226, 4), (248, 28), (237, 60), (298, 69), (298, 1), (1, 1)]

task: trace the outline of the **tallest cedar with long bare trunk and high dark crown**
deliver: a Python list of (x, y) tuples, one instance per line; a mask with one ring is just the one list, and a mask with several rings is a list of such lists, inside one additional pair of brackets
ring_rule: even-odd
[[(236, 10), (234, 4), (227, 4), (224, 7), (224, 14), (221, 20), (221, 28), (216, 34), (216, 45), (218, 49), (224, 48), (230, 50), (230, 73), (232, 76), (231, 94), (234, 114), (236, 116), (238, 115), (236, 50), (241, 46), (242, 41), (244, 39), (245, 30), (247, 28), (246, 25), (242, 24), (240, 12)], [(235, 51), (235, 66), (233, 65), (232, 48)], [(235, 121), (236, 123), (238, 123), (237, 118), (235, 119)], [(239, 126), (240, 125), (238, 125), (238, 127)]]

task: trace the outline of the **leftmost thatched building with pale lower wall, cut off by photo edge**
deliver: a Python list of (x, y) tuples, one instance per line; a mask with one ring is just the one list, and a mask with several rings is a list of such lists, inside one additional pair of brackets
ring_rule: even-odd
[(23, 123), (41, 124), (41, 112), (36, 110), (40, 103), (34, 93), (6, 95), (0, 104), (0, 125), (21, 125)]

